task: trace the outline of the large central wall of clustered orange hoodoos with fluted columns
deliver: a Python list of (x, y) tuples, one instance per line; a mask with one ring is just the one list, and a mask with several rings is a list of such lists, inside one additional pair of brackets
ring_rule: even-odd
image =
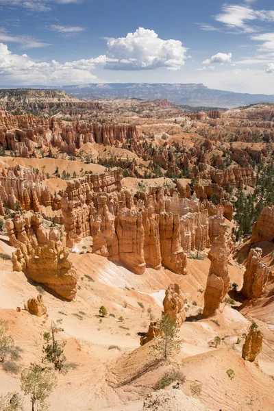
[[(151, 188), (133, 197), (121, 190), (121, 171), (86, 175), (68, 182), (62, 195), (66, 245), (92, 236), (92, 251), (120, 261), (134, 273), (163, 265), (185, 273), (186, 252), (205, 249), (219, 234), (223, 208), (208, 217), (208, 201), (180, 199)], [(214, 211), (212, 212), (214, 214)]]

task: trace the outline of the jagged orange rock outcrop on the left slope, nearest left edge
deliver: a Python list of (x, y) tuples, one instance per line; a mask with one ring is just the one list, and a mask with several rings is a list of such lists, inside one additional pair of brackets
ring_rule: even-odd
[(57, 227), (45, 227), (38, 213), (17, 213), (6, 221), (10, 243), (17, 247), (12, 255), (14, 271), (45, 284), (65, 299), (74, 299), (77, 271), (69, 258), (69, 249), (60, 243)]

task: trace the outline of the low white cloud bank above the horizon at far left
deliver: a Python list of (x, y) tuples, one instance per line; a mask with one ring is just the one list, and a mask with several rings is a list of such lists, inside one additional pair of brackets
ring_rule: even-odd
[(0, 76), (2, 82), (14, 84), (83, 84), (98, 82), (92, 74), (96, 64), (104, 64), (105, 56), (90, 60), (60, 63), (36, 62), (27, 54), (13, 54), (8, 46), (0, 43)]

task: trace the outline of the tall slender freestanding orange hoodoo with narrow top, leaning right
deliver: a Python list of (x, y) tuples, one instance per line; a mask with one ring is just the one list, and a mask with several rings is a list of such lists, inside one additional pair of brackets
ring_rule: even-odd
[(203, 317), (205, 318), (214, 314), (229, 290), (227, 262), (230, 251), (228, 226), (221, 224), (221, 232), (208, 253), (211, 264), (204, 294)]

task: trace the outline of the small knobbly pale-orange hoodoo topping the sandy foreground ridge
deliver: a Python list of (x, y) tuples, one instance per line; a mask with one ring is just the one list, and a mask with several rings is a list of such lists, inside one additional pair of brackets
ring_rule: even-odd
[(172, 321), (176, 321), (178, 327), (181, 327), (186, 320), (184, 303), (184, 293), (179, 285), (170, 284), (163, 301), (164, 315), (169, 315)]

